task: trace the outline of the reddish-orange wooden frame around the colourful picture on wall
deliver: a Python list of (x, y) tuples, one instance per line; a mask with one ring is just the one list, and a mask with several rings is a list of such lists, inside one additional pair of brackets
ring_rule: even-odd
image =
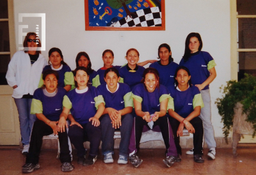
[(154, 27), (103, 27), (103, 26), (89, 26), (89, 5), (88, 1), (84, 0), (84, 19), (86, 31), (165, 31), (165, 0), (161, 0), (161, 19), (162, 26)]

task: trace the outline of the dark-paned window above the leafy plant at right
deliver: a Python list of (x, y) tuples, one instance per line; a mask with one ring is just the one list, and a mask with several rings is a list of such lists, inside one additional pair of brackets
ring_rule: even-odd
[(244, 73), (256, 76), (256, 1), (236, 1), (237, 80)]

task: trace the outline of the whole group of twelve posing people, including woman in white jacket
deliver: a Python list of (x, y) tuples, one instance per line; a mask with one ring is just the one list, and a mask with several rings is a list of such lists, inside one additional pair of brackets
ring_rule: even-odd
[[(159, 61), (138, 63), (138, 50), (129, 49), (124, 66), (112, 66), (114, 54), (112, 50), (104, 50), (104, 66), (97, 72), (92, 70), (86, 52), (77, 54), (77, 68), (72, 72), (58, 48), (49, 50), (49, 65), (45, 66), (44, 57), (36, 50), (40, 45), (35, 42), (40, 43), (36, 34), (28, 33), (24, 40), (28, 50), (13, 55), (6, 74), (8, 84), (14, 89), (13, 98), (19, 112), (22, 153), (28, 153), (22, 172), (39, 168), (42, 137), (51, 133), (58, 134), (60, 139), (62, 171), (73, 170), (68, 137), (77, 149), (78, 164), (95, 163), (100, 141), (104, 162), (113, 163), (113, 136), (117, 128), (121, 132), (118, 164), (127, 164), (129, 159), (138, 167), (142, 162), (137, 153), (143, 128), (157, 127), (163, 135), (166, 146), (163, 162), (168, 167), (181, 161), (179, 138), (184, 127), (194, 133), (194, 148), (186, 153), (194, 155), (195, 162), (204, 162), (205, 136), (209, 147), (207, 155), (214, 160), (216, 142), (211, 124), (209, 84), (216, 77), (216, 64), (208, 52), (201, 51), (200, 34), (190, 33), (186, 38), (180, 65), (173, 62), (170, 46), (164, 43), (158, 49)], [(19, 64), (24, 60), (30, 61), (30, 65)], [(152, 63), (150, 67), (143, 68), (148, 63)], [(25, 67), (30, 71), (22, 72)], [(22, 80), (26, 80), (26, 86)], [(38, 89), (36, 84), (39, 84)], [(20, 86), (23, 89), (19, 89)], [(29, 100), (23, 101), (23, 98)], [(26, 126), (22, 115), (26, 115), (23, 117)], [(31, 116), (33, 121), (29, 122)], [(27, 135), (22, 130), (28, 130)], [(88, 156), (84, 141), (90, 142)]]

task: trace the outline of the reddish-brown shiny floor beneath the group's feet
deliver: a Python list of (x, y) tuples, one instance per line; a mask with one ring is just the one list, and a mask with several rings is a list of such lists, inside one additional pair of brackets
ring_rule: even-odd
[[(25, 156), (18, 147), (11, 148), (0, 147), (0, 174), (22, 174)], [(84, 167), (77, 165), (77, 157), (74, 155), (74, 171), (61, 172), (56, 150), (44, 149), (40, 154), (40, 169), (30, 174), (256, 174), (256, 148), (239, 148), (236, 157), (232, 155), (232, 149), (217, 149), (216, 160), (208, 160), (205, 149), (204, 164), (195, 163), (192, 155), (185, 155), (187, 150), (182, 149), (182, 161), (170, 168), (163, 164), (164, 149), (141, 149), (139, 156), (143, 163), (138, 168), (130, 162), (118, 165), (118, 150), (115, 149), (113, 164), (104, 164), (103, 156), (100, 155), (94, 165)]]

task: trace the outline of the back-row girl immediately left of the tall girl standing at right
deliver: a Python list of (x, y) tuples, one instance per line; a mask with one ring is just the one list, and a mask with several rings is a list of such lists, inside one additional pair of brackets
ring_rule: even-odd
[(158, 58), (160, 61), (149, 65), (159, 72), (160, 84), (174, 86), (174, 73), (179, 65), (173, 62), (170, 45), (163, 43), (158, 47)]

